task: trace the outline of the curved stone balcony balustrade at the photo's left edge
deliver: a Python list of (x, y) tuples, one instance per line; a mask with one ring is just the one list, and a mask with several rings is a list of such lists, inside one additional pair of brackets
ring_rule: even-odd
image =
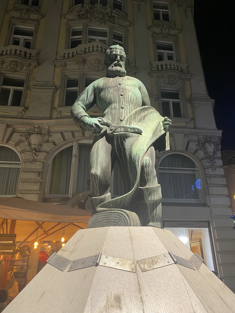
[(0, 57), (15, 55), (27, 60), (36, 60), (37, 54), (37, 50), (31, 50), (20, 46), (0, 47)]

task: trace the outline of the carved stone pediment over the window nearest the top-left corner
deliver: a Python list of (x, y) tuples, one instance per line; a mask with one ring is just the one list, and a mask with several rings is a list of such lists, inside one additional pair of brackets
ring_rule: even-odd
[(38, 13), (33, 8), (17, 7), (13, 10), (8, 10), (8, 14), (11, 16), (12, 21), (23, 23), (39, 23), (39, 20), (43, 17), (41, 13)]

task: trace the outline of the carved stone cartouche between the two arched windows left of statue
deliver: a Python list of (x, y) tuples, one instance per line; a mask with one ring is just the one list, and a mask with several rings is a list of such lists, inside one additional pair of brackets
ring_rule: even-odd
[(39, 126), (34, 126), (30, 131), (26, 131), (24, 135), (20, 135), (20, 137), (27, 143), (33, 156), (33, 160), (30, 162), (31, 164), (35, 164), (34, 158), (39, 156), (37, 152), (39, 152), (43, 144), (48, 141), (51, 136), (52, 135), (47, 133), (43, 127)]

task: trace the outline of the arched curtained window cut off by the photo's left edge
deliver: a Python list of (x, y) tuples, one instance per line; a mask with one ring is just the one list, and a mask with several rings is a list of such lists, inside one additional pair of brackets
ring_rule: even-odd
[(20, 158), (11, 148), (0, 146), (0, 196), (15, 196), (20, 172)]

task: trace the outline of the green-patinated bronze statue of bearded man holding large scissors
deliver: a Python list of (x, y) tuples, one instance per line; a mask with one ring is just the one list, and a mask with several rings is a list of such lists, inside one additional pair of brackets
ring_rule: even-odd
[[(71, 109), (75, 123), (95, 135), (89, 196), (95, 215), (88, 227), (140, 226), (139, 220), (142, 226), (161, 227), (161, 188), (154, 168), (154, 148), (169, 149), (171, 121), (150, 106), (144, 85), (126, 76), (125, 59), (122, 47), (111, 46), (105, 53), (106, 77), (91, 83)], [(94, 104), (102, 117), (91, 118), (86, 113)], [(109, 185), (116, 161), (126, 193), (111, 199)]]

